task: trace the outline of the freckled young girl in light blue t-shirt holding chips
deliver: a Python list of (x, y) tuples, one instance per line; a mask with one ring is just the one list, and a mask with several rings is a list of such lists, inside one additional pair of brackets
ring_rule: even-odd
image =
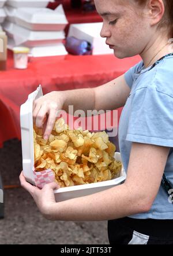
[[(49, 220), (108, 220), (111, 244), (173, 244), (173, 206), (161, 186), (173, 184), (173, 37), (172, 0), (95, 0), (103, 17), (101, 36), (118, 58), (140, 54), (142, 61), (125, 75), (94, 89), (51, 92), (35, 101), (33, 119), (44, 137), (58, 109), (116, 109), (124, 106), (119, 147), (127, 172), (124, 184), (55, 203), (55, 183), (42, 190), (25, 181), (40, 212)], [(89, 100), (88, 100), (89, 99)]]

